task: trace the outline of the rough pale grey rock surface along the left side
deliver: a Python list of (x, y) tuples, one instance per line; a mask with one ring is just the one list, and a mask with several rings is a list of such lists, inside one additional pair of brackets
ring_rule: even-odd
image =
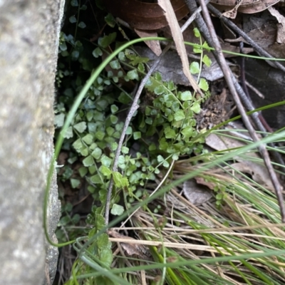
[[(1, 284), (52, 284), (58, 249), (43, 234), (53, 155), (53, 99), (64, 0), (0, 1)], [(48, 232), (60, 214), (54, 175)]]

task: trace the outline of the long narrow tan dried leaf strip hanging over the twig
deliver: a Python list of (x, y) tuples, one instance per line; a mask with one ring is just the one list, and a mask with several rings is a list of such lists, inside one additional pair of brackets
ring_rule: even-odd
[(173, 10), (172, 5), (170, 3), (170, 0), (158, 0), (158, 4), (162, 8), (162, 10), (164, 10), (165, 17), (170, 26), (172, 37), (173, 37), (173, 40), (175, 41), (175, 46), (177, 48), (177, 53), (179, 54), (181, 61), (182, 61), (183, 73), (190, 81), (192, 88), (194, 88), (196, 92), (202, 94), (202, 91), (200, 90), (195, 79), (190, 73), (189, 61), (188, 61), (188, 57), (187, 57), (187, 53), (185, 49), (183, 36), (182, 36), (180, 26), (175, 16), (175, 11)]

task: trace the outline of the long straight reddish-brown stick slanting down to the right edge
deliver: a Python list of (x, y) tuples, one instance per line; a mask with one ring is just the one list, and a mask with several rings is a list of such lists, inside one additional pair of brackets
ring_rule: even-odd
[[(239, 110), (239, 114), (242, 116), (242, 120), (244, 121), (244, 125), (247, 127), (247, 130), (249, 131), (249, 134), (251, 135), (252, 140), (254, 140), (254, 142), (257, 142), (257, 141), (259, 141), (259, 138), (257, 137), (257, 133), (255, 133), (255, 130), (252, 127), (252, 124), (249, 122), (249, 118), (247, 117), (247, 113), (245, 112), (244, 107), (242, 106), (242, 102), (239, 99), (239, 95), (237, 94), (237, 90), (234, 87), (234, 82), (232, 80), (233, 76), (232, 76), (231, 71), (229, 70), (229, 66), (227, 66), (227, 62), (226, 62), (224, 55), (222, 53), (222, 47), (219, 43), (219, 39), (217, 38), (217, 34), (214, 31), (214, 26), (212, 24), (211, 17), (209, 16), (209, 11), (207, 9), (207, 6), (206, 6), (204, 0), (199, 0), (199, 3), (202, 7), (202, 14), (204, 16), (204, 21), (206, 22), (207, 28), (209, 29), (209, 33), (212, 37), (213, 47), (216, 50), (217, 58), (219, 59), (220, 68), (222, 69), (222, 71), (224, 73), (224, 78), (227, 81), (227, 85), (229, 87), (230, 92), (232, 93), (232, 96), (234, 98), (234, 102), (237, 105), (237, 109)], [(271, 165), (269, 153), (267, 152), (265, 145), (261, 144), (261, 145), (259, 145), (258, 148), (259, 148), (259, 152), (261, 153), (261, 156), (264, 159), (266, 168), (269, 171), (271, 182), (274, 185), (276, 197), (278, 199), (279, 207), (280, 207), (280, 211), (281, 211), (282, 222), (285, 222), (285, 207), (284, 207), (284, 200), (283, 200), (283, 195), (282, 195), (283, 187), (281, 187), (279, 180), (276, 176), (276, 173), (274, 171), (274, 168)]]

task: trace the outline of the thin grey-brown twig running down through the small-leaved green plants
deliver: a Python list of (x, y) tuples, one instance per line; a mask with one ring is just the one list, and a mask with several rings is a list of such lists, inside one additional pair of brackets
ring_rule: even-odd
[[(208, 2), (209, 2), (209, 0), (207, 0), (207, 3)], [(201, 12), (201, 9), (197, 9), (195, 11), (195, 13), (192, 14), (190, 19), (188, 19), (186, 21), (186, 23), (182, 26), (182, 28), (181, 28), (182, 32), (185, 31), (185, 29), (192, 23), (192, 21), (195, 20), (197, 14), (199, 14), (200, 12)], [(155, 68), (160, 63), (160, 61), (162, 59), (162, 56), (165, 55), (165, 53), (170, 49), (171, 46), (172, 46), (171, 42), (168, 43), (167, 46), (165, 46), (165, 48), (163, 49), (163, 51), (160, 54), (160, 56), (157, 58), (157, 60), (153, 64), (153, 66), (147, 72), (145, 78), (143, 78), (142, 81), (140, 82), (140, 86), (138, 87), (138, 90), (137, 90), (137, 92), (135, 94), (135, 98), (133, 99), (133, 104), (130, 106), (130, 111), (128, 113), (127, 118), (125, 119), (125, 125), (124, 125), (122, 133), (120, 135), (120, 140), (118, 142), (118, 147), (117, 147), (117, 150), (115, 152), (115, 159), (114, 159), (114, 162), (113, 162), (113, 172), (118, 170), (118, 160), (119, 160), (120, 152), (121, 152), (122, 147), (123, 147), (123, 142), (125, 140), (125, 133), (126, 133), (126, 131), (128, 129), (128, 126), (130, 125), (130, 120), (132, 120), (135, 111), (138, 110), (138, 108), (139, 108), (138, 99), (140, 98), (140, 94), (142, 93), (142, 89), (145, 87), (145, 83), (147, 83), (147, 80), (148, 80), (148, 78), (150, 78), (152, 72), (155, 71)], [(112, 189), (113, 189), (113, 177), (110, 178), (110, 183), (109, 183), (107, 197), (106, 197), (105, 224), (108, 224), (108, 222), (109, 222), (110, 199), (111, 199), (111, 196), (112, 196)]]

